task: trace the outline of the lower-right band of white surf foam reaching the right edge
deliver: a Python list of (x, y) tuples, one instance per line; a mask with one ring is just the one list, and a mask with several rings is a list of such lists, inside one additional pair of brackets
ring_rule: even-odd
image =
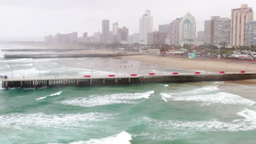
[(211, 121), (160, 121), (148, 117), (141, 118), (139, 123), (147, 123), (152, 128), (164, 128), (166, 131), (248, 131), (256, 129), (255, 111), (245, 110), (238, 112), (242, 119), (232, 122), (221, 122), (218, 119)]

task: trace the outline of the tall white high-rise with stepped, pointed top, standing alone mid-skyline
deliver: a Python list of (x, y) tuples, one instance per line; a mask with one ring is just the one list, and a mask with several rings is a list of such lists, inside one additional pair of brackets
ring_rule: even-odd
[(146, 10), (146, 14), (139, 19), (139, 41), (147, 45), (148, 33), (153, 31), (153, 17), (150, 10)]

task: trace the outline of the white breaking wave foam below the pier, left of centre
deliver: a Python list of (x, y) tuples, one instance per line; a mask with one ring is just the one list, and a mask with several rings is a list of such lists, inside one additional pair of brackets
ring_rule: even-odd
[(139, 103), (139, 99), (148, 99), (154, 91), (144, 93), (118, 93), (118, 94), (106, 94), (106, 95), (91, 95), (86, 98), (75, 98), (61, 101), (63, 105), (74, 105), (92, 107), (98, 105), (110, 105), (110, 104), (136, 104)]

